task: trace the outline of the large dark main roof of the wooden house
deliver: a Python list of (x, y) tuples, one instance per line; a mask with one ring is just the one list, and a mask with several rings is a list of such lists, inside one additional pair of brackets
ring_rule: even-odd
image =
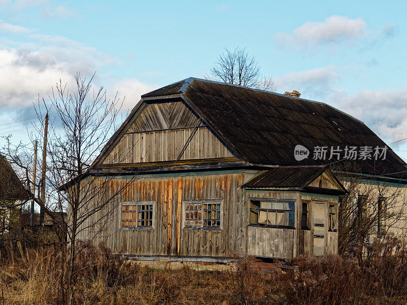
[[(334, 160), (313, 160), (314, 147), (386, 145), (362, 121), (334, 107), (264, 90), (188, 78), (142, 98), (180, 94), (238, 157), (251, 164), (326, 165)], [(310, 150), (308, 159), (294, 159), (297, 144)], [(357, 172), (407, 178), (407, 164), (390, 148), (386, 160), (356, 160), (356, 165)]]

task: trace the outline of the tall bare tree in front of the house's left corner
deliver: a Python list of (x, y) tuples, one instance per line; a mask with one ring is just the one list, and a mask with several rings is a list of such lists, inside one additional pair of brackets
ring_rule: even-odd
[[(42, 121), (38, 134), (44, 129), (44, 115), (51, 114), (48, 131), (45, 200), (39, 194), (31, 194), (47, 214), (49, 221), (59, 226), (60, 232), (67, 235), (70, 247), (62, 245), (62, 300), (68, 304), (75, 302), (74, 273), (75, 258), (98, 234), (101, 234), (112, 221), (109, 217), (117, 210), (122, 195), (136, 176), (118, 183), (118, 176), (106, 170), (104, 175), (93, 172), (95, 161), (115, 129), (121, 105), (117, 95), (109, 100), (103, 87), (93, 90), (94, 75), (86, 80), (78, 73), (75, 76), (75, 89), (71, 93), (67, 84), (60, 80), (52, 90), (48, 102), (35, 105), (38, 118)], [(39, 141), (40, 143), (42, 141)], [(11, 163), (22, 169), (24, 179), (36, 185), (41, 182), (31, 179), (31, 145), (11, 145), (10, 140), (4, 151)], [(126, 152), (120, 160), (125, 160)], [(40, 167), (40, 163), (37, 168)], [(37, 179), (40, 181), (40, 179)], [(67, 211), (64, 217), (61, 211)], [(86, 242), (77, 243), (80, 232), (91, 232)], [(61, 236), (63, 240), (63, 236)], [(68, 252), (66, 252), (68, 250)], [(66, 270), (66, 272), (64, 272)]]

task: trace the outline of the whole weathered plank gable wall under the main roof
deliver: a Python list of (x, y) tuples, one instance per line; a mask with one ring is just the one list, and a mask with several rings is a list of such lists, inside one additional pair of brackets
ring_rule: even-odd
[(171, 101), (148, 104), (103, 164), (176, 161), (189, 139), (180, 160), (234, 157), (184, 102)]

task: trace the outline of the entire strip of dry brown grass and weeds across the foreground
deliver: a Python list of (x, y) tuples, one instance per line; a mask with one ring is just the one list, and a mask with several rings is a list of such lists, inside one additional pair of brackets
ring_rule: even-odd
[[(4, 249), (4, 248), (3, 248)], [(20, 250), (2, 256), (5, 304), (62, 304), (61, 253)], [(247, 257), (232, 271), (140, 267), (100, 246), (76, 261), (77, 304), (401, 304), (407, 255), (400, 243), (377, 242), (364, 265), (337, 255), (313, 257), (299, 271), (261, 272)], [(0, 295), (1, 296), (1, 295)], [(0, 305), (2, 302), (0, 301)]]

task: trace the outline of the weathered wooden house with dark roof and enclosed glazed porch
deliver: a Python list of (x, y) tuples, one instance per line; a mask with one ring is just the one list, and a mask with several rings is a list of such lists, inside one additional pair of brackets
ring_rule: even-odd
[[(346, 190), (325, 166), (332, 160), (298, 161), (295, 148), (385, 143), (354, 117), (298, 96), (196, 78), (143, 95), (89, 172), (118, 184), (137, 175), (97, 240), (146, 260), (336, 253)], [(390, 148), (385, 160), (355, 163), (405, 186), (407, 166)]]

